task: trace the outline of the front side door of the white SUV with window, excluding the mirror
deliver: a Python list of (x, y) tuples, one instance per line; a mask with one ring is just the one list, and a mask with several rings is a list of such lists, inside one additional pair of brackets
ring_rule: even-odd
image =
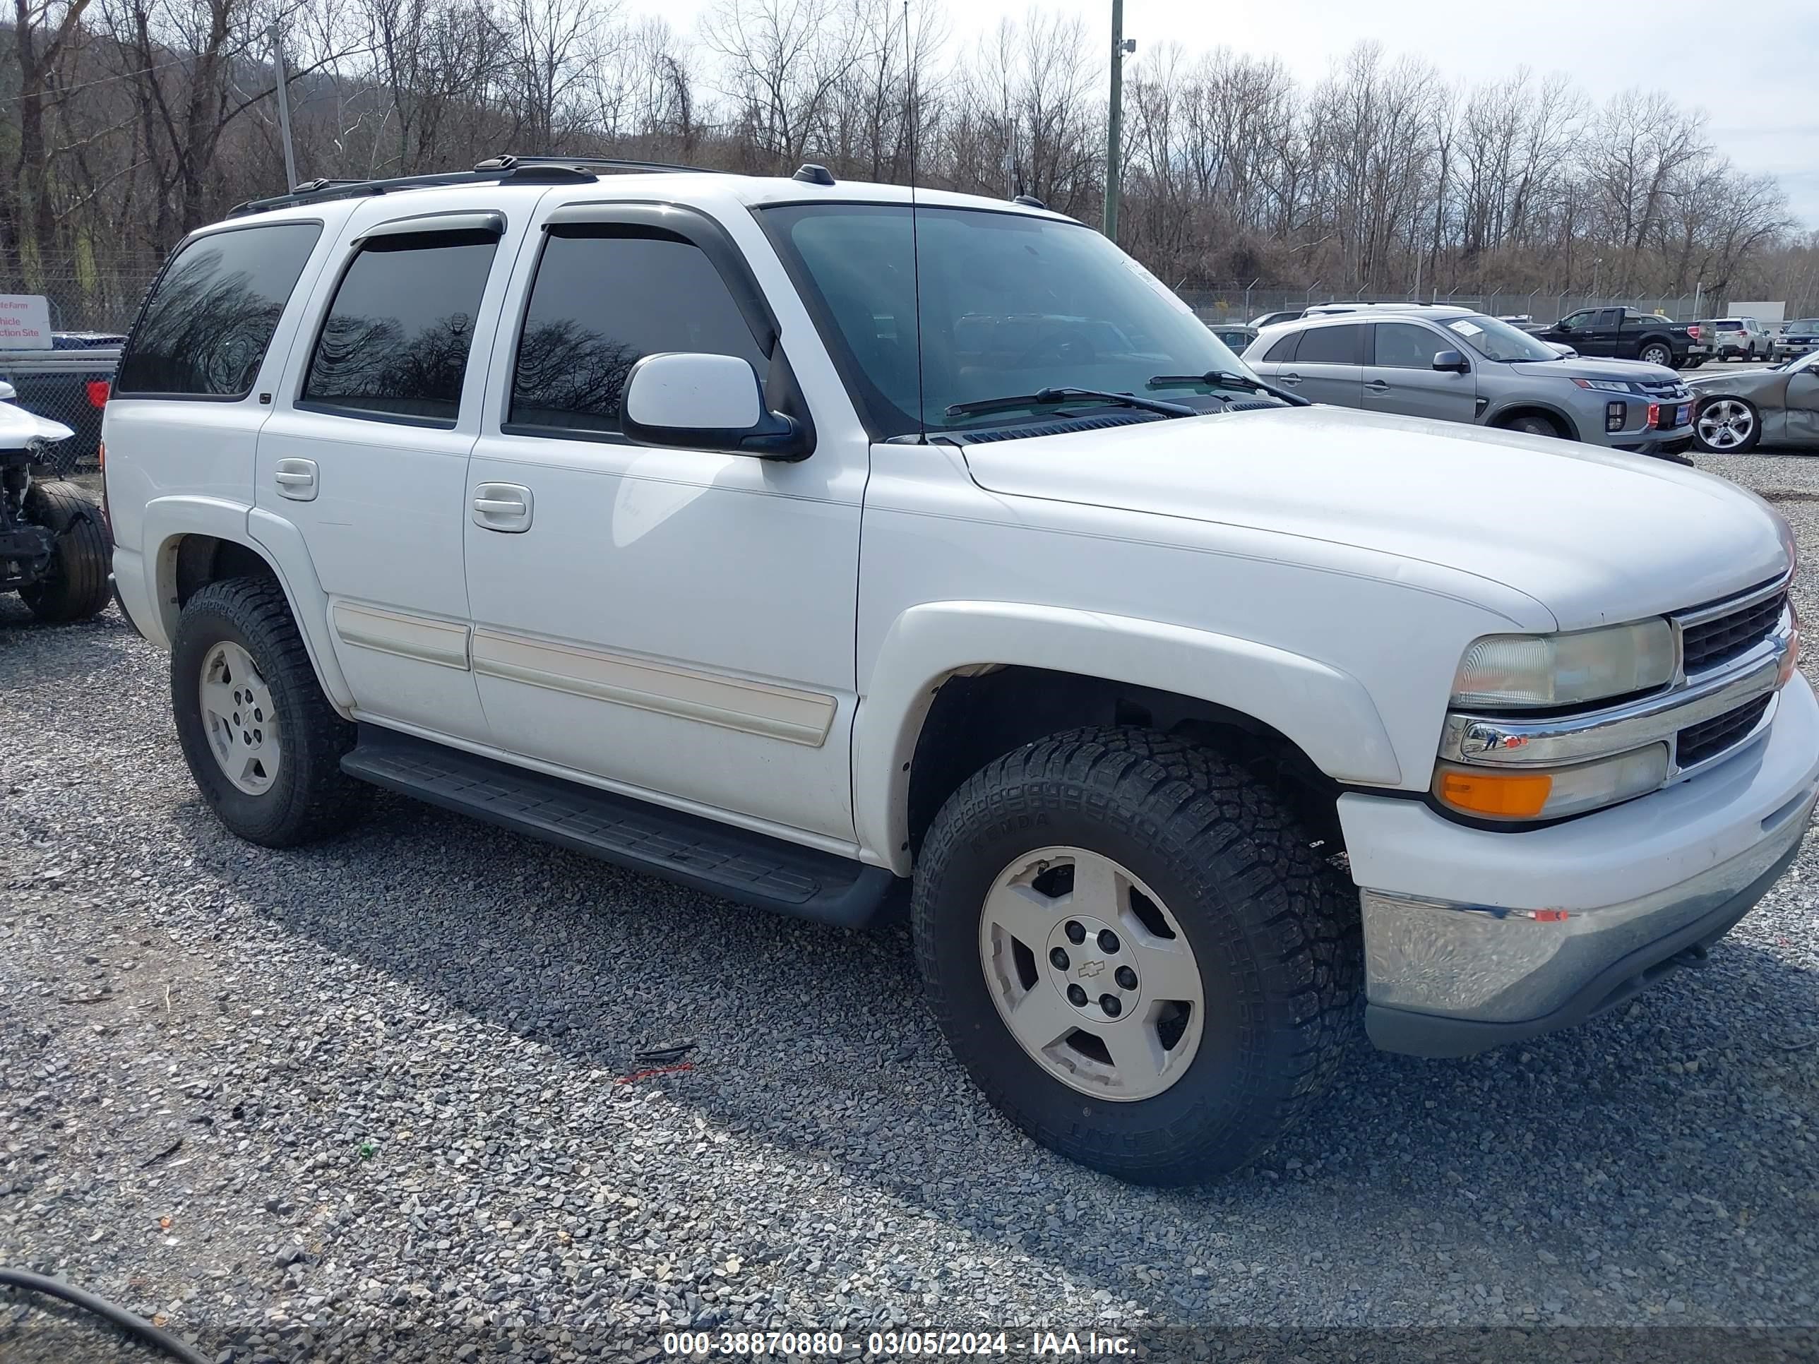
[[(493, 744), (558, 775), (851, 842), (859, 513), (869, 446), (817, 413), (784, 464), (635, 446), (628, 371), (695, 351), (779, 373), (749, 216), (575, 204), (531, 224), (467, 467), (473, 673)], [(733, 231), (755, 240), (735, 244)]]

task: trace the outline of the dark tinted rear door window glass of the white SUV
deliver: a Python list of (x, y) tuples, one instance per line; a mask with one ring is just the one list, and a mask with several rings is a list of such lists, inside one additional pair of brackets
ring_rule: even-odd
[(491, 233), (366, 242), (335, 289), (298, 406), (455, 426), (497, 246)]

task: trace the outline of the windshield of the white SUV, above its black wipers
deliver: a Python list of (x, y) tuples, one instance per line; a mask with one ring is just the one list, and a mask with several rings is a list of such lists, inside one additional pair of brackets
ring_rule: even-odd
[[(884, 440), (924, 426), (950, 431), (1055, 416), (1053, 404), (950, 411), (1010, 395), (1142, 396), (1155, 391), (1151, 375), (1251, 376), (1193, 309), (1075, 222), (920, 207), (919, 258), (911, 258), (906, 204), (789, 204), (762, 218), (866, 424)], [(1068, 404), (1080, 406), (1091, 404)]]

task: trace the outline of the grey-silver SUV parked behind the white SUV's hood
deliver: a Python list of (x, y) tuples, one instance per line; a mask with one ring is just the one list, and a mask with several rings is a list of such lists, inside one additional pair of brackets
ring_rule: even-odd
[(1466, 307), (1373, 307), (1264, 327), (1262, 378), (1339, 407), (1472, 422), (1679, 458), (1692, 393), (1664, 366), (1586, 360)]

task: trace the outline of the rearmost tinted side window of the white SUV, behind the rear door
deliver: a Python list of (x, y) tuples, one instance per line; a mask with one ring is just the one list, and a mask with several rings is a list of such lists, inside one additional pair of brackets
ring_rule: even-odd
[(320, 224), (275, 222), (178, 247), (140, 315), (115, 391), (244, 398)]

